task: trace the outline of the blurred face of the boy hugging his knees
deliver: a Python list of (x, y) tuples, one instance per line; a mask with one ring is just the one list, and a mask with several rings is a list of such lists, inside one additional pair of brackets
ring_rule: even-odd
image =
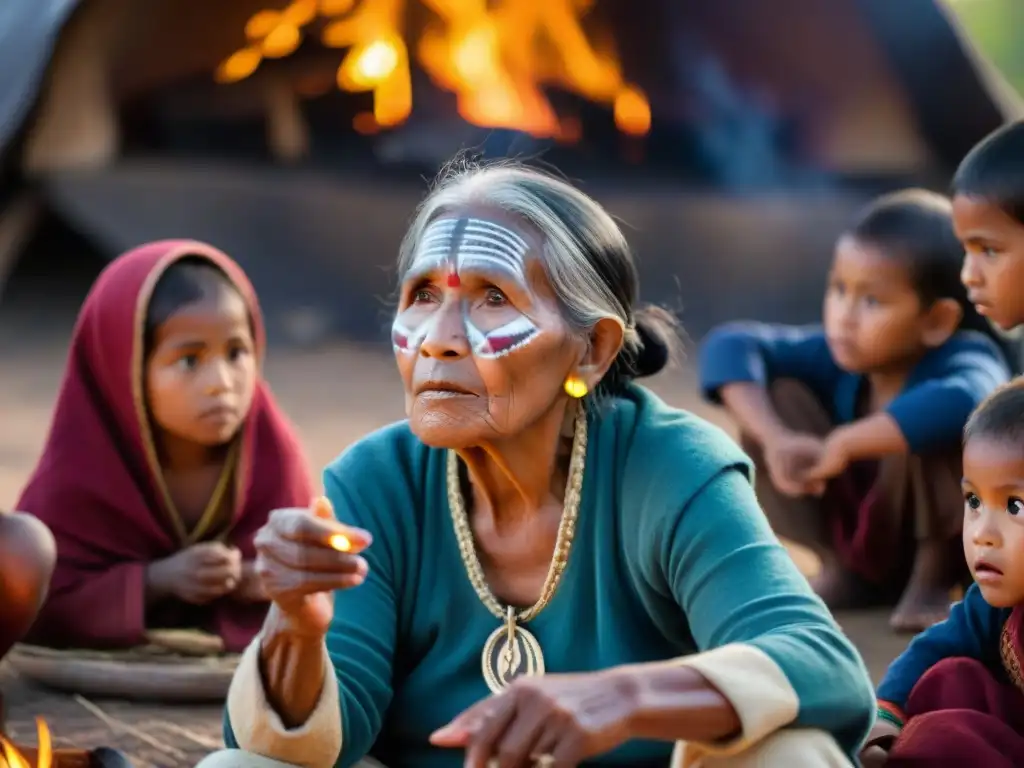
[(841, 368), (873, 373), (924, 351), (927, 313), (902, 264), (847, 236), (836, 246), (824, 327)]

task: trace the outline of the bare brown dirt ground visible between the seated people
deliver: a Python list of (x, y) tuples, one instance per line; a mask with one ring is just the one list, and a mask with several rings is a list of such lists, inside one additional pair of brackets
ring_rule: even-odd
[[(45, 438), (59, 382), (70, 326), (36, 333), (31, 324), (0, 318), (0, 508), (11, 508)], [(317, 350), (271, 350), (267, 378), (298, 425), (314, 468), (367, 432), (401, 418), (401, 394), (390, 353), (379, 348), (332, 345)], [(697, 401), (684, 368), (663, 374), (652, 387), (670, 402), (723, 423)], [(805, 570), (813, 561), (796, 554)], [(878, 677), (902, 647), (883, 613), (840, 617)], [(116, 745), (138, 768), (194, 766), (220, 741), (217, 707), (166, 707), (87, 701), (55, 694), (0, 668), (8, 710), (8, 735), (35, 742), (34, 718), (47, 719), (57, 746)]]

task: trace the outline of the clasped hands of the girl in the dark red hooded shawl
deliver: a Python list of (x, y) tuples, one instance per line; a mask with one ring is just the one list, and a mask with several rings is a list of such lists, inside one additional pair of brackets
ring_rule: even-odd
[(152, 578), (162, 593), (205, 605), (238, 587), (242, 553), (220, 542), (202, 542), (154, 563)]

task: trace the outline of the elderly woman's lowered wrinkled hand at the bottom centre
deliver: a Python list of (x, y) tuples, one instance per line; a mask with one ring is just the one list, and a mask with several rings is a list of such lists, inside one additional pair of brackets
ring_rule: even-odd
[(466, 768), (572, 768), (629, 739), (634, 698), (623, 673), (523, 677), (430, 736), (466, 750)]

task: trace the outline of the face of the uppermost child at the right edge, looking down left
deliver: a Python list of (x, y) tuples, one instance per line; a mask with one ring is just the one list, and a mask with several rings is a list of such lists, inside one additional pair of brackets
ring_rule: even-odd
[(1024, 324), (1024, 224), (979, 198), (953, 198), (964, 244), (961, 280), (980, 314), (1004, 330)]

